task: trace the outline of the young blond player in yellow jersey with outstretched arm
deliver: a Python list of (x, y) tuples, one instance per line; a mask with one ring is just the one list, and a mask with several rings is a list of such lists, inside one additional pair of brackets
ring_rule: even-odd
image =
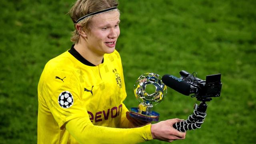
[[(77, 0), (70, 10), (75, 26), (70, 50), (50, 60), (38, 84), (38, 143), (100, 144), (172, 142), (185, 133), (178, 119), (147, 124), (133, 119), (126, 98), (116, 0)], [(137, 127), (137, 128), (134, 128)]]

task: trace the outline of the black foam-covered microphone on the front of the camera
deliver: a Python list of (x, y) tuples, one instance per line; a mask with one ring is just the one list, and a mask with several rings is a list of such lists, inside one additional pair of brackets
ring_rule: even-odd
[(189, 96), (189, 94), (191, 94), (191, 84), (188, 82), (185, 82), (184, 80), (177, 78), (176, 76), (172, 76), (170, 74), (166, 74), (164, 76), (162, 76), (162, 82), (176, 90), (177, 92), (180, 92), (181, 94), (184, 94), (186, 96)]

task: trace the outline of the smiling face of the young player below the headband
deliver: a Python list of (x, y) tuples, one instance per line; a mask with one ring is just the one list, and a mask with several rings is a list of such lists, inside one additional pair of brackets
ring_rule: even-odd
[(85, 38), (88, 50), (98, 56), (114, 52), (120, 34), (119, 17), (118, 10), (113, 10), (92, 18)]

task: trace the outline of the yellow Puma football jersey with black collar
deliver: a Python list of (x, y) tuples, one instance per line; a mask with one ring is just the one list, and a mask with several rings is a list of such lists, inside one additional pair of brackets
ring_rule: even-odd
[[(50, 60), (40, 77), (38, 144), (77, 144), (76, 135), (79, 134), (71, 135), (65, 127), (67, 122), (76, 118), (86, 118), (83, 128), (74, 127), (87, 128), (84, 135), (87, 142), (81, 143), (151, 140), (150, 125), (125, 129), (131, 125), (125, 116), (128, 111), (123, 104), (125, 98), (119, 53), (115, 50), (112, 54), (105, 54), (102, 64), (94, 66), (73, 45), (70, 50)], [(117, 141), (108, 141), (113, 138)]]

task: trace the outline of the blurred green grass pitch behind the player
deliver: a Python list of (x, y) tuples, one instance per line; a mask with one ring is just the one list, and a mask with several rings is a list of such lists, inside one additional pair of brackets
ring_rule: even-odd
[[(34, 144), (37, 84), (48, 60), (68, 50), (74, 0), (1, 0), (0, 144)], [(202, 128), (174, 144), (256, 143), (256, 1), (120, 0), (122, 57), (128, 108), (138, 105), (133, 84), (143, 73), (205, 79), (222, 74), (219, 98), (208, 102)], [(195, 98), (168, 89), (154, 107), (160, 119), (186, 119)], [(199, 103), (199, 102), (198, 102)], [(153, 140), (145, 144), (164, 144)]]

